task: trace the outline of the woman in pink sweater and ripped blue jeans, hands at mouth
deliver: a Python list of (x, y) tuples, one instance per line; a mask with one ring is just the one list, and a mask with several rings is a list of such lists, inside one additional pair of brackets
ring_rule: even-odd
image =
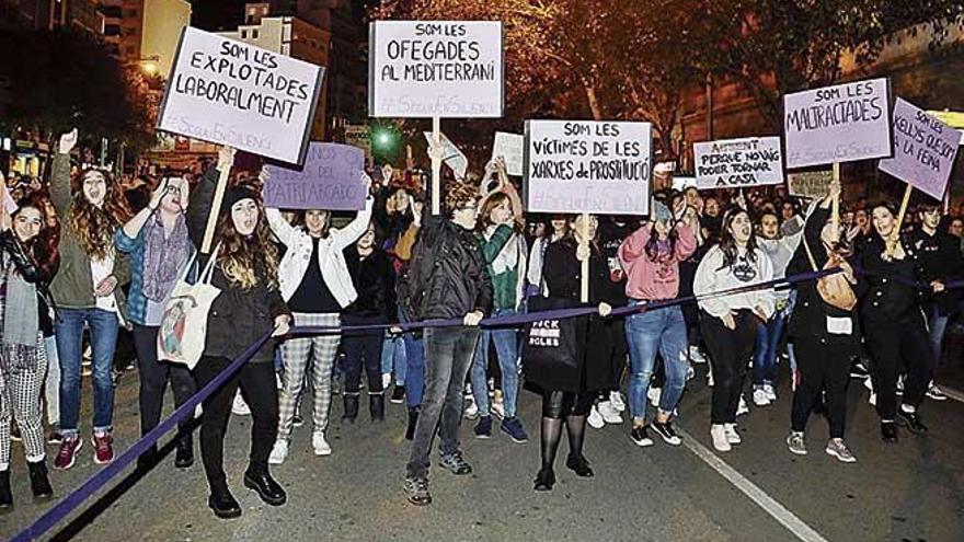
[[(692, 210), (685, 201), (677, 209), (680, 220), (659, 201), (653, 203), (650, 220), (619, 247), (619, 260), (626, 270), (626, 293), (630, 304), (675, 299), (679, 295), (679, 263), (697, 249), (690, 223)], [(629, 408), (633, 418), (630, 438), (636, 446), (653, 446), (646, 426), (646, 392), (656, 362), (663, 357), (666, 382), (659, 395), (659, 410), (652, 424), (663, 440), (672, 446), (681, 443), (670, 422), (673, 411), (686, 385), (685, 351), (689, 345), (686, 321), (679, 305), (642, 309), (626, 319), (626, 337), (632, 371), (629, 380)]]

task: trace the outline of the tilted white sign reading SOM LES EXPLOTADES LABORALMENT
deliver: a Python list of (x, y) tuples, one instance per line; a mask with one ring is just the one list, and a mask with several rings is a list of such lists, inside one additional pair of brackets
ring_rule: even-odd
[(278, 53), (184, 28), (158, 128), (301, 163), (323, 72)]

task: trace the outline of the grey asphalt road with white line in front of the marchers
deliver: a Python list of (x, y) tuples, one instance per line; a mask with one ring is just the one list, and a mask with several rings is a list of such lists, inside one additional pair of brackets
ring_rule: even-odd
[[(957, 339), (960, 341), (960, 339)], [(949, 348), (941, 376), (962, 382), (961, 344)], [(402, 439), (404, 408), (391, 404), (388, 420), (374, 425), (367, 410), (355, 426), (337, 423), (341, 401), (333, 402), (331, 457), (310, 448), (310, 424), (295, 430), (292, 451), (273, 469), (288, 503), (262, 504), (241, 484), (246, 465), (250, 417), (232, 416), (226, 471), (243, 515), (218, 520), (207, 508), (207, 485), (198, 462), (173, 468), (173, 453), (144, 476), (130, 474), (91, 498), (82, 511), (61, 522), (56, 538), (96, 541), (216, 540), (634, 540), (634, 541), (961, 541), (964, 540), (964, 403), (925, 403), (927, 437), (906, 431), (896, 446), (879, 439), (877, 420), (867, 391), (851, 381), (848, 443), (858, 457), (842, 464), (823, 451), (827, 426), (813, 417), (807, 428), (810, 454), (787, 451), (790, 417), (785, 374), (779, 401), (739, 418), (744, 443), (718, 454), (709, 439), (707, 366), (684, 396), (678, 427), (685, 446), (657, 441), (638, 448), (629, 425), (588, 429), (585, 454), (594, 478), (577, 478), (564, 465), (551, 493), (532, 492), (539, 468), (539, 401), (524, 392), (519, 415), (532, 437), (524, 445), (497, 434), (472, 438), (462, 426), (463, 450), (474, 472), (455, 476), (432, 473), (435, 503), (408, 504), (402, 477), (409, 442)], [(782, 368), (781, 368), (782, 369)], [(783, 370), (785, 372), (785, 369)], [(964, 390), (964, 388), (959, 388)], [(116, 396), (117, 450), (137, 436), (137, 376), (126, 373)], [(89, 412), (90, 393), (84, 393)], [(82, 417), (89, 423), (89, 414)], [(49, 453), (56, 452), (50, 447)], [(0, 537), (15, 534), (50, 504), (30, 497), (22, 450), (15, 447), (13, 483), (16, 506), (0, 514)], [(78, 464), (54, 472), (58, 497), (79, 486), (97, 466), (85, 446)], [(126, 473), (131, 473), (128, 469)]]

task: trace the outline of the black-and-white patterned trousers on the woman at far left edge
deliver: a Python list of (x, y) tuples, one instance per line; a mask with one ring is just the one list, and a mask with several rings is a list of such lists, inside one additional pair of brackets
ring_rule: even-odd
[[(41, 389), (47, 372), (47, 356), (43, 337), (36, 349), (28, 348), (31, 356), (38, 356), (31, 368), (14, 368), (11, 359), (0, 360), (0, 471), (10, 465), (10, 427), (14, 420), (23, 437), (26, 460), (43, 461), (44, 427), (41, 423)], [(3, 356), (13, 354), (3, 348)]]

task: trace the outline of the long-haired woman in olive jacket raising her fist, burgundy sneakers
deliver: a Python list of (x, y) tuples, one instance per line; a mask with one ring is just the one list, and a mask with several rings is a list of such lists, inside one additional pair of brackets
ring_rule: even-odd
[(50, 284), (57, 303), (54, 324), (60, 360), (60, 434), (62, 441), (55, 469), (70, 469), (82, 446), (78, 434), (80, 414), (80, 365), (84, 324), (90, 328), (93, 353), (94, 462), (114, 460), (114, 382), (111, 368), (118, 327), (126, 320), (126, 303), (119, 286), (127, 284), (130, 269), (126, 255), (114, 249), (114, 233), (130, 218), (120, 187), (101, 170), (84, 170), (70, 183), (70, 151), (77, 130), (60, 138), (54, 158), (50, 198), (60, 218), (58, 251), (60, 272)]

